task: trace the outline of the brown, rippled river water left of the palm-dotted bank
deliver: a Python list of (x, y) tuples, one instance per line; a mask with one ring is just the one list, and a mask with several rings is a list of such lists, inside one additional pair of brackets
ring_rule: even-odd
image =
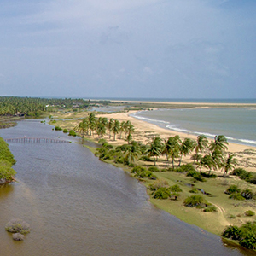
[[(9, 143), (18, 183), (0, 188), (0, 255), (255, 255), (185, 224), (148, 202), (141, 183), (38, 120), (3, 138), (49, 137), (73, 143)], [(4, 230), (11, 218), (32, 227), (25, 241)]]

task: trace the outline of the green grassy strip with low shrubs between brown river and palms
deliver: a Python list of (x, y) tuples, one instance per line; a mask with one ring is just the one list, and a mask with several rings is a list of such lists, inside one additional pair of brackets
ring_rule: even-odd
[[(79, 125), (79, 120), (56, 120), (54, 125), (71, 130)], [(98, 136), (89, 138), (90, 141), (98, 141)], [(220, 236), (227, 226), (241, 226), (247, 221), (256, 220), (252, 213), (256, 208), (256, 187), (253, 183), (247, 182), (247, 177), (240, 178), (241, 174), (247, 175), (246, 172), (240, 170), (234, 175), (228, 175), (226, 172), (225, 177), (219, 173), (216, 175), (214, 165), (211, 169), (211, 163), (207, 163), (207, 158), (205, 162), (201, 161), (201, 166), (196, 165), (196, 162), (177, 166), (175, 160), (173, 168), (171, 160), (166, 166), (166, 159), (162, 154), (154, 154), (154, 150), (148, 154), (147, 145), (137, 143), (132, 145), (132, 142), (123, 146), (102, 144), (103, 147), (100, 149), (86, 147), (90, 148), (100, 160), (130, 172), (132, 177), (137, 178), (147, 187), (149, 200), (156, 207), (189, 224)], [(137, 147), (140, 148), (139, 154), (136, 152)], [(133, 152), (132, 159), (131, 152)], [(155, 161), (158, 163), (157, 166), (154, 166)], [(229, 170), (231, 171), (231, 168)], [(234, 193), (232, 189), (235, 189)], [(227, 191), (229, 193), (225, 193)], [(202, 207), (185, 206), (186, 199), (193, 195), (202, 198), (205, 202)], [(243, 200), (238, 200), (239, 197)]]

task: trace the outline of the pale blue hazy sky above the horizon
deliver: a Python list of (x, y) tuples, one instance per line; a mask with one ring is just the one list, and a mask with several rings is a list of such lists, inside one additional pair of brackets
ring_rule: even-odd
[(255, 0), (2, 0), (0, 96), (256, 98)]

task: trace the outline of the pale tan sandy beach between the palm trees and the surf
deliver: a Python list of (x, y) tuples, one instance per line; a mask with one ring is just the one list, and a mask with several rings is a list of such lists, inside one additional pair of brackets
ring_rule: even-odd
[[(135, 132), (132, 134), (132, 139), (143, 144), (150, 142), (153, 137), (161, 137), (163, 139), (166, 139), (168, 137), (179, 135), (182, 139), (185, 137), (196, 139), (196, 136), (194, 135), (183, 132), (171, 131), (165, 128), (161, 128), (158, 125), (150, 124), (143, 120), (133, 118), (131, 117), (131, 113), (136, 113), (136, 111), (129, 111), (128, 113), (100, 114), (99, 116), (107, 117), (108, 119), (118, 119), (119, 121), (130, 120), (131, 124), (135, 127)], [(211, 141), (211, 139), (209, 139), (209, 141)], [(111, 140), (110, 143), (123, 144), (124, 140), (119, 139), (119, 136), (117, 136), (116, 141)], [(238, 160), (238, 166), (245, 168), (247, 171), (256, 172), (255, 147), (236, 143), (229, 143), (227, 154), (236, 155), (236, 159)], [(184, 160), (191, 161), (189, 157), (190, 156), (184, 158)]]

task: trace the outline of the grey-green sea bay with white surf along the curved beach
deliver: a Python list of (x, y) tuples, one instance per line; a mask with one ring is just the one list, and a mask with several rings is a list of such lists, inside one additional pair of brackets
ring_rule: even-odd
[(132, 116), (172, 131), (209, 138), (224, 135), (230, 143), (256, 146), (256, 108), (160, 108)]

